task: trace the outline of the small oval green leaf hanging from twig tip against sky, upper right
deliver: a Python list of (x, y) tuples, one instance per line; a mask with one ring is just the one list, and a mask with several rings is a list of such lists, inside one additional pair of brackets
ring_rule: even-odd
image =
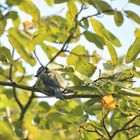
[(115, 23), (117, 26), (121, 26), (123, 24), (123, 21), (124, 21), (122, 13), (119, 11), (115, 11), (114, 12), (114, 20), (115, 20)]

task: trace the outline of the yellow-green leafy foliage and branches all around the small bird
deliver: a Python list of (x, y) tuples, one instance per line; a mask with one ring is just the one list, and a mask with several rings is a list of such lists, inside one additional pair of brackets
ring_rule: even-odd
[[(120, 57), (118, 50), (125, 46), (101, 19), (111, 16), (120, 28), (126, 19), (139, 25), (139, 15), (113, 8), (105, 0), (44, 2), (49, 8), (66, 8), (42, 17), (31, 0), (0, 3), (0, 37), (9, 43), (0, 43), (0, 139), (138, 140), (140, 87), (135, 84), (140, 78), (140, 28)], [(128, 4), (138, 7), (140, 1)], [(89, 8), (92, 14), (84, 15)], [(32, 20), (23, 21), (23, 13)], [(91, 43), (93, 52), (81, 39)], [(110, 60), (104, 60), (105, 49)], [(36, 80), (33, 69), (43, 64), (65, 79), (64, 100), (53, 105), (31, 84)]]

